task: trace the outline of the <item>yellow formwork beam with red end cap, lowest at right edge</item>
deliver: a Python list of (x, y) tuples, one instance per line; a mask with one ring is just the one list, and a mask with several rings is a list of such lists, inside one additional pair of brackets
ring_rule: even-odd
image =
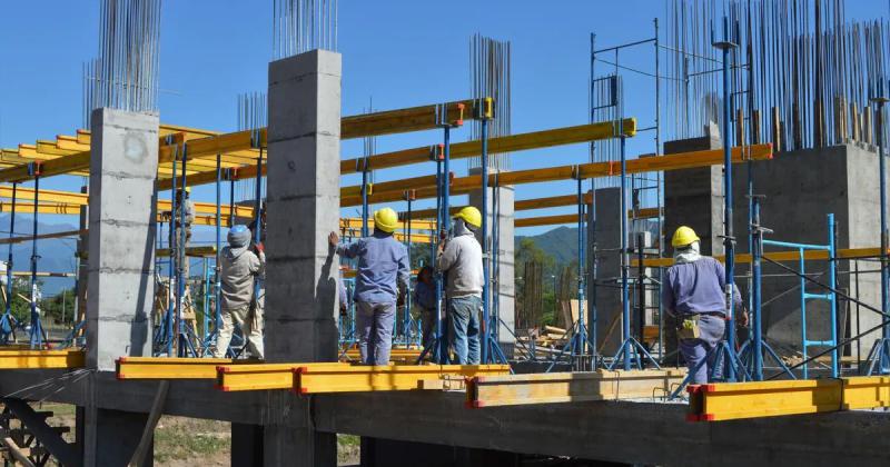
[(688, 388), (690, 421), (890, 407), (890, 377), (723, 382)]

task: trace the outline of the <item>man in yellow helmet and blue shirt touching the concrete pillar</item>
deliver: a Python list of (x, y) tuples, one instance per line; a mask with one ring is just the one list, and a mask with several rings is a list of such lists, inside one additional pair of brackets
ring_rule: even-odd
[(405, 297), (411, 278), (408, 250), (393, 238), (398, 216), (390, 208), (374, 212), (374, 234), (338, 246), (337, 232), (328, 241), (337, 255), (358, 258), (355, 280), (356, 332), (362, 362), (388, 365), (393, 347), (396, 306)]

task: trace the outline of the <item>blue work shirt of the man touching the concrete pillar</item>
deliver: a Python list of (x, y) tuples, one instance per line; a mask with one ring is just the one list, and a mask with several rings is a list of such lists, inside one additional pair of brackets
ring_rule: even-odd
[(355, 301), (394, 302), (399, 290), (407, 290), (411, 278), (408, 249), (392, 235), (375, 230), (370, 237), (338, 246), (337, 255), (358, 258)]

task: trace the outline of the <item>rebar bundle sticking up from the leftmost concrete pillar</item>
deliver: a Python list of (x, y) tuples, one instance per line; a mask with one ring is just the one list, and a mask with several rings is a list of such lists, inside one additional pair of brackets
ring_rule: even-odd
[(157, 112), (161, 0), (100, 0), (99, 58), (83, 67), (85, 113)]

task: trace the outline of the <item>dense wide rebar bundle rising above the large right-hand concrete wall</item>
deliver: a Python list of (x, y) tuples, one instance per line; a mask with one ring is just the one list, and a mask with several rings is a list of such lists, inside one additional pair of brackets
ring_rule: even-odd
[(890, 26), (847, 22), (843, 0), (668, 0), (673, 139), (720, 123), (714, 24), (730, 19), (734, 143), (797, 150), (877, 141), (869, 99), (886, 92)]

